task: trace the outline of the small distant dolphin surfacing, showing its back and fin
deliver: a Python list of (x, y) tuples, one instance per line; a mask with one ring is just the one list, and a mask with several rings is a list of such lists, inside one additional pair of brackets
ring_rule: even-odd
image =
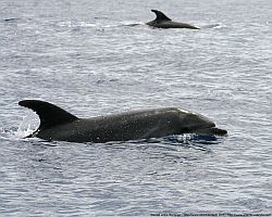
[(146, 23), (149, 26), (157, 27), (157, 28), (191, 28), (191, 29), (199, 29), (196, 26), (173, 22), (171, 18), (169, 18), (165, 14), (163, 14), (160, 11), (151, 10), (156, 13), (156, 20)]

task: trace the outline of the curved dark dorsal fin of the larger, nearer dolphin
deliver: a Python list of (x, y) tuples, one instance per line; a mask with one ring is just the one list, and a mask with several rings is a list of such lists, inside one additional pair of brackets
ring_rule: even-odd
[(49, 102), (39, 100), (23, 100), (20, 101), (18, 104), (37, 113), (40, 118), (40, 125), (38, 129), (46, 129), (77, 119), (76, 116)]

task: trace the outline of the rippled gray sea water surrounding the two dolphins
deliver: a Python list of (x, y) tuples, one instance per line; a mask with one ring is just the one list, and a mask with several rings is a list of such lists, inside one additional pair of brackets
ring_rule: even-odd
[[(201, 29), (150, 28), (151, 9)], [(271, 0), (1, 0), (0, 11), (0, 216), (271, 215)], [(178, 106), (228, 136), (23, 139), (39, 125), (24, 99), (79, 117)]]

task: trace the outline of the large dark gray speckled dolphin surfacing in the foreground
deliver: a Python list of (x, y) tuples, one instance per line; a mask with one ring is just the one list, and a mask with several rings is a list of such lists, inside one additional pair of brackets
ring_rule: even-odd
[(226, 135), (207, 117), (176, 107), (125, 112), (92, 118), (78, 118), (48, 102), (24, 100), (40, 118), (39, 128), (29, 135), (45, 140), (108, 142), (161, 138), (181, 133)]

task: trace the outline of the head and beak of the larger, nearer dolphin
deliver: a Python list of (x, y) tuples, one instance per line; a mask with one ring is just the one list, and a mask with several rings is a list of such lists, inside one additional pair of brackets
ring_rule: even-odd
[(224, 129), (219, 129), (215, 124), (208, 117), (188, 112), (186, 110), (178, 110), (178, 117), (181, 122), (181, 132), (182, 133), (200, 133), (200, 135), (226, 135), (227, 131)]

